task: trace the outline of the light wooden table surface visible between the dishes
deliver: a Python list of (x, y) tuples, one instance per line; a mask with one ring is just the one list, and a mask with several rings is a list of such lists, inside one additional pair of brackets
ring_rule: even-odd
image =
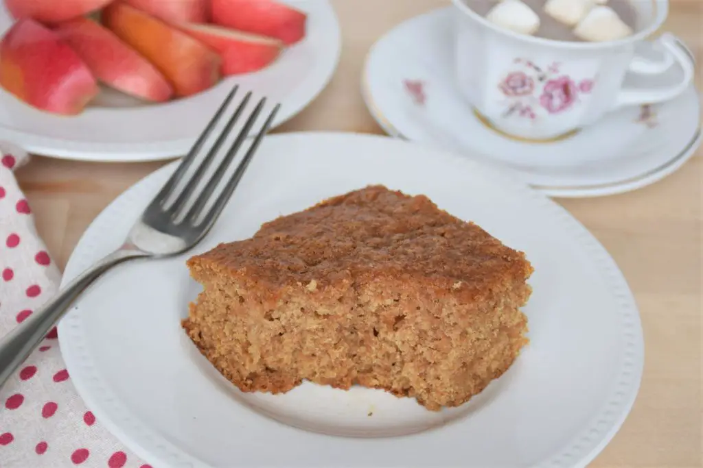
[[(318, 99), (276, 132), (382, 133), (359, 79), (370, 46), (388, 29), (446, 0), (333, 0), (342, 60)], [(665, 29), (703, 62), (703, 1), (673, 0)], [(697, 74), (701, 89), (702, 74)], [(163, 163), (82, 163), (34, 157), (18, 177), (37, 229), (63, 267), (91, 220)], [(701, 194), (703, 158), (662, 182), (599, 199), (558, 200), (613, 255), (633, 289), (645, 330), (645, 373), (631, 415), (592, 467), (702, 466)]]

